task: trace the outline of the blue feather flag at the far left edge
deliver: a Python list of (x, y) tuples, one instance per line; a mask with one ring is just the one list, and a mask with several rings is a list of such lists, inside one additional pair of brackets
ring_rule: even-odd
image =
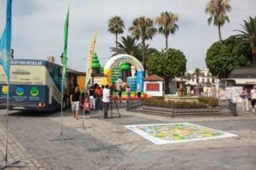
[(9, 82), (9, 59), (11, 48), (11, 21), (12, 21), (12, 0), (7, 0), (6, 24), (3, 35), (0, 39), (0, 65), (6, 73)]

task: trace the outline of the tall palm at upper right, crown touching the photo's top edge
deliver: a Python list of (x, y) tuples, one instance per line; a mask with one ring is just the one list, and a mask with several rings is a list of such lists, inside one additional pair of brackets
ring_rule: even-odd
[(219, 42), (222, 40), (220, 26), (224, 26), (225, 21), (230, 22), (229, 17), (226, 15), (230, 10), (230, 0), (210, 0), (210, 2), (207, 3), (205, 12), (210, 14), (210, 18), (207, 21), (209, 26), (211, 25), (212, 20), (213, 25), (218, 26)]

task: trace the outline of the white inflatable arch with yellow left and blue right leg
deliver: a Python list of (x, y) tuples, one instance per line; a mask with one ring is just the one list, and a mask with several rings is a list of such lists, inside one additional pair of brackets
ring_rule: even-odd
[(143, 83), (144, 83), (144, 68), (139, 60), (135, 57), (128, 54), (119, 54), (115, 55), (112, 58), (108, 59), (106, 65), (104, 66), (104, 74), (106, 77), (103, 79), (103, 84), (111, 84), (112, 82), (112, 71), (111, 67), (114, 63), (126, 62), (133, 65), (137, 70), (137, 90), (143, 92)]

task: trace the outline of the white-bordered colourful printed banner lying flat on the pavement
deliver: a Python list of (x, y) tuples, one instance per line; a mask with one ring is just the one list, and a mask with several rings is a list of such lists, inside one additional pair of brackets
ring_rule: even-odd
[(125, 127), (154, 144), (173, 144), (196, 140), (237, 137), (236, 134), (202, 127), (189, 122), (126, 125)]

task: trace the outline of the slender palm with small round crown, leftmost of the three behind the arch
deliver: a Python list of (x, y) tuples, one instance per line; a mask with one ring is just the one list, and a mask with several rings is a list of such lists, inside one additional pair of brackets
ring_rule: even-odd
[(108, 31), (115, 34), (115, 48), (118, 48), (118, 35), (124, 32), (125, 24), (119, 16), (113, 16), (108, 20)]

